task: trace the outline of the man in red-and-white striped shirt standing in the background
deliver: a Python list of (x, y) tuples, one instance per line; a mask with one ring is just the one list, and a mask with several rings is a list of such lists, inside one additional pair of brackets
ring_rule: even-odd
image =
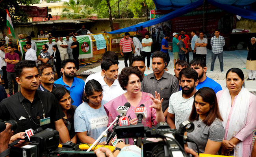
[[(130, 38), (130, 34), (126, 32), (124, 34), (124, 38), (120, 40), (120, 53), (124, 56), (124, 65), (128, 67), (127, 60), (129, 58), (129, 66), (132, 66), (132, 52), (135, 53), (134, 42), (132, 38)], [(133, 48), (133, 49), (132, 49)]]

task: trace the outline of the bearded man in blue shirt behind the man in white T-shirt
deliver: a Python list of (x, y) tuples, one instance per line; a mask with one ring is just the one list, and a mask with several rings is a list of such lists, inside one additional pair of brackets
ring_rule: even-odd
[(209, 87), (213, 89), (215, 93), (222, 90), (220, 84), (206, 76), (207, 67), (203, 58), (195, 58), (191, 60), (189, 66), (190, 68), (195, 69), (195, 71), (198, 73), (199, 82), (196, 87), (197, 90), (203, 87)]

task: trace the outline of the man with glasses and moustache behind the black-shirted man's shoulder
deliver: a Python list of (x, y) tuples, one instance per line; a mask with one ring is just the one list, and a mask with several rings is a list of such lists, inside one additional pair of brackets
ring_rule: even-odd
[(39, 73), (39, 80), (41, 82), (38, 89), (41, 91), (51, 92), (55, 87), (64, 87), (61, 84), (54, 83), (55, 73), (52, 71), (52, 66), (50, 64), (41, 64), (37, 69)]

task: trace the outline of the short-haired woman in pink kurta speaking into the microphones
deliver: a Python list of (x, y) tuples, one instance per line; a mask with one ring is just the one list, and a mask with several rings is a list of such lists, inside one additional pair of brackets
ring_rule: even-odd
[[(141, 92), (141, 81), (143, 79), (143, 74), (138, 68), (128, 67), (122, 69), (119, 74), (119, 84), (126, 90), (126, 93), (120, 95), (119, 97), (109, 101), (104, 104), (104, 108), (108, 115), (108, 126), (113, 122), (115, 117), (119, 115), (117, 112), (118, 106), (123, 106), (126, 102), (131, 104), (129, 110), (126, 113), (126, 117), (129, 118), (130, 124), (137, 124), (137, 117), (134, 113), (135, 108), (144, 104), (147, 110), (147, 117), (142, 120), (144, 126), (152, 127), (152, 123), (156, 125), (158, 122), (165, 121), (163, 116), (163, 111), (161, 109), (161, 103), (163, 99), (160, 100), (160, 94), (156, 94), (155, 98), (150, 93)], [(133, 144), (133, 140), (129, 139), (129, 144)]]

